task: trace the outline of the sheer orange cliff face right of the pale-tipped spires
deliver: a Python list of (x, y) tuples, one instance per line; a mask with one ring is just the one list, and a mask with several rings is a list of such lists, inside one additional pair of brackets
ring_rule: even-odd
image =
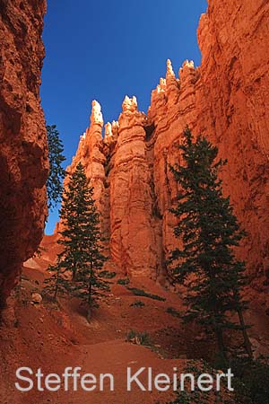
[(229, 159), (223, 180), (248, 233), (242, 255), (254, 276), (269, 275), (268, 21), (266, 1), (218, 0), (209, 3), (198, 31), (198, 129)]

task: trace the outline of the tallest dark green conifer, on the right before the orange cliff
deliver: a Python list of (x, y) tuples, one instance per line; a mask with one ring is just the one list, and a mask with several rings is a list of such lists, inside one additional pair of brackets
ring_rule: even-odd
[[(196, 321), (214, 334), (221, 356), (226, 357), (225, 329), (243, 333), (244, 348), (252, 356), (243, 312), (247, 302), (241, 292), (246, 284), (245, 263), (236, 259), (234, 247), (245, 235), (223, 197), (218, 174), (227, 161), (216, 161), (218, 149), (205, 137), (194, 140), (189, 128), (183, 134), (182, 164), (170, 167), (178, 181), (178, 206), (170, 211), (178, 218), (175, 236), (182, 247), (172, 250), (168, 266), (175, 282), (187, 285), (185, 321)], [(237, 312), (239, 324), (231, 321)]]

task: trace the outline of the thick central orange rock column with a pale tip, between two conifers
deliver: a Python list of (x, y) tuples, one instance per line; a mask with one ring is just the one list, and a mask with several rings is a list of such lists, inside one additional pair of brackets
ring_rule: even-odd
[(133, 275), (151, 275), (158, 267), (158, 243), (152, 218), (152, 172), (144, 141), (146, 117), (135, 97), (126, 97), (118, 119), (118, 137), (110, 162), (110, 253), (117, 267)]

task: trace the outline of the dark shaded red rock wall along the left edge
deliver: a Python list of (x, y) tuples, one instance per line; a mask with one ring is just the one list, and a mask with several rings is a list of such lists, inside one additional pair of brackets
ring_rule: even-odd
[[(0, 301), (38, 248), (47, 215), (40, 107), (45, 0), (0, 0)], [(0, 303), (1, 303), (0, 302)]]

